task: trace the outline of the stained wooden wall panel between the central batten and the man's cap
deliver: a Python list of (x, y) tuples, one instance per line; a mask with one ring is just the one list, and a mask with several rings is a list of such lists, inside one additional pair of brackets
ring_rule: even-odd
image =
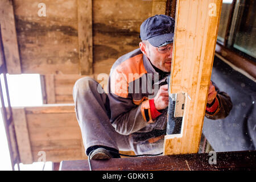
[(93, 1), (94, 74), (109, 74), (118, 57), (139, 47), (139, 28), (151, 10), (152, 1)]

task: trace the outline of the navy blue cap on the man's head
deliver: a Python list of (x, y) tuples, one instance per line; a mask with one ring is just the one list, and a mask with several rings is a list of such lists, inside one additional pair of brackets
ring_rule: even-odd
[(152, 16), (141, 24), (141, 40), (148, 40), (154, 47), (174, 42), (175, 20), (167, 15)]

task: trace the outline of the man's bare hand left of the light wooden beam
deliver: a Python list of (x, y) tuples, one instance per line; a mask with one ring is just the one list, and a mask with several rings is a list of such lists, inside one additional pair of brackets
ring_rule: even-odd
[(168, 106), (169, 94), (168, 94), (168, 84), (160, 86), (158, 93), (154, 98), (155, 109), (162, 110)]

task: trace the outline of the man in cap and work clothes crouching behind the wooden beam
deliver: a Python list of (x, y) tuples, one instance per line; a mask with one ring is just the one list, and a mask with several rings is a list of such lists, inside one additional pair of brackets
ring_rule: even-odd
[[(141, 24), (142, 42), (115, 61), (108, 93), (99, 92), (101, 86), (92, 78), (76, 82), (73, 98), (90, 159), (119, 158), (119, 150), (163, 151), (174, 25), (166, 15), (152, 16)], [(224, 118), (231, 109), (230, 97), (211, 82), (206, 117)]]

